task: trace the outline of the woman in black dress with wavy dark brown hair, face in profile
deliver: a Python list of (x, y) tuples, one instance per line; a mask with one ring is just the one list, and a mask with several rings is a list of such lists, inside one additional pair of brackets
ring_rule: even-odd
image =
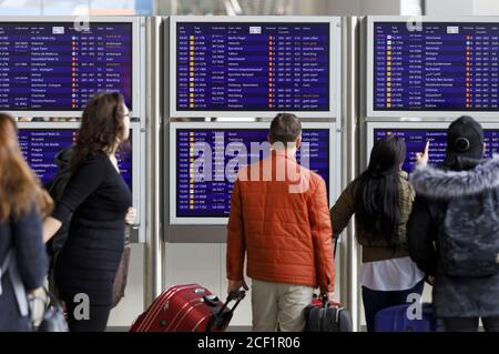
[(130, 189), (115, 152), (129, 138), (129, 110), (119, 93), (98, 93), (86, 104), (71, 160), (72, 176), (44, 223), (48, 241), (71, 214), (68, 241), (55, 264), (70, 331), (105, 331), (113, 280), (124, 249)]

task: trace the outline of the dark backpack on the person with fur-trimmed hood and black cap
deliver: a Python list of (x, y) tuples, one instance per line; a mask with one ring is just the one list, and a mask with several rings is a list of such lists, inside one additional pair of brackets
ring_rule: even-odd
[(450, 276), (495, 275), (499, 270), (499, 190), (450, 200), (438, 247), (440, 264)]

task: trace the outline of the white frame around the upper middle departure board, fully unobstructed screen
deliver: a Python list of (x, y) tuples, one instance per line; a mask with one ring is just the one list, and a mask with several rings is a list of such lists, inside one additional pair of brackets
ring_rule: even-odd
[[(176, 23), (177, 22), (283, 22), (283, 23), (329, 23), (329, 110), (327, 111), (286, 111), (301, 118), (339, 118), (338, 108), (340, 104), (340, 70), (342, 70), (342, 31), (339, 17), (282, 17), (282, 16), (172, 16), (170, 17), (170, 95), (165, 100), (170, 102), (171, 118), (187, 117), (224, 117), (224, 118), (274, 118), (278, 111), (190, 111), (177, 110), (176, 108)], [(166, 37), (166, 36), (165, 36)], [(166, 60), (166, 59), (165, 59)], [(165, 90), (165, 94), (167, 90)]]

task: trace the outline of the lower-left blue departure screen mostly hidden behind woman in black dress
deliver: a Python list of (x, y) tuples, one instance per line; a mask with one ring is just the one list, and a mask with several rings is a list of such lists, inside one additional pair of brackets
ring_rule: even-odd
[[(19, 145), (22, 154), (40, 178), (43, 185), (49, 185), (59, 171), (55, 154), (77, 141), (77, 129), (19, 129)], [(129, 142), (116, 153), (118, 165), (126, 184), (132, 191), (132, 134)]]

